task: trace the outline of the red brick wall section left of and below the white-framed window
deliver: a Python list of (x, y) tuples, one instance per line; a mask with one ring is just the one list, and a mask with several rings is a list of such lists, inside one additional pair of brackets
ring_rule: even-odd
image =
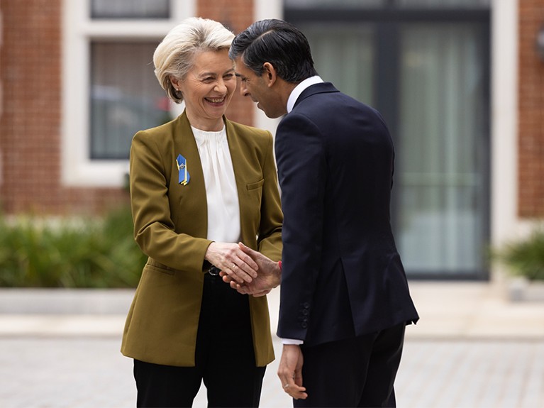
[(0, 0), (0, 211), (94, 213), (123, 189), (60, 183), (62, 0)]

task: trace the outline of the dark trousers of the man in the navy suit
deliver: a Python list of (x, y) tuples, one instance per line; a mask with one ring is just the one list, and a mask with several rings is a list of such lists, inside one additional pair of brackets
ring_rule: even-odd
[(396, 407), (394, 381), (401, 362), (404, 329), (302, 346), (302, 381), (308, 398), (294, 407)]

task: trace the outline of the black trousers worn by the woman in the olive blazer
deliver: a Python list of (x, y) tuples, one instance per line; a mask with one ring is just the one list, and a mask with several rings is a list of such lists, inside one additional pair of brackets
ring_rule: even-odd
[[(180, 322), (183, 324), (183, 322)], [(208, 407), (258, 407), (265, 367), (255, 367), (248, 296), (206, 274), (196, 365), (134, 360), (138, 407), (191, 407), (201, 382)]]

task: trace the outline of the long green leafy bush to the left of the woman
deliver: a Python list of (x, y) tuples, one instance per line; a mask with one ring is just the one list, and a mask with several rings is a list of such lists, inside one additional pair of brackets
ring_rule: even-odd
[(100, 219), (0, 217), (3, 287), (135, 287), (145, 260), (127, 208)]

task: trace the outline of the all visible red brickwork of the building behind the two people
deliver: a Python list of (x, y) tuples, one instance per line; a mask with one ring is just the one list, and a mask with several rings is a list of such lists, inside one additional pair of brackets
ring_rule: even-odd
[[(60, 182), (62, 0), (0, 0), (0, 211), (96, 212), (126, 202), (123, 189), (67, 188)], [(239, 33), (251, 0), (199, 0), (197, 15)], [(519, 0), (518, 214), (544, 216), (544, 61), (535, 38), (543, 0)], [(236, 92), (227, 115), (252, 124), (255, 106)]]

